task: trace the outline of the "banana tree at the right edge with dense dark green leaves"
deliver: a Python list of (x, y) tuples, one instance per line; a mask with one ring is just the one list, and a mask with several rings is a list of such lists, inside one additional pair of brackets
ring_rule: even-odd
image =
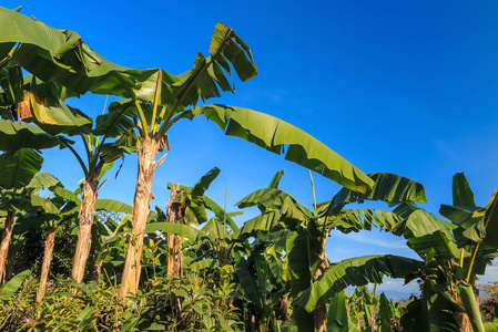
[(413, 323), (423, 319), (427, 331), (485, 331), (474, 289), (477, 276), (498, 256), (497, 191), (479, 208), (464, 174), (456, 174), (453, 194), (454, 205), (439, 210), (451, 222), (415, 209), (395, 230), (425, 260), (418, 276), (423, 297), (402, 318), (405, 330), (415, 331)]

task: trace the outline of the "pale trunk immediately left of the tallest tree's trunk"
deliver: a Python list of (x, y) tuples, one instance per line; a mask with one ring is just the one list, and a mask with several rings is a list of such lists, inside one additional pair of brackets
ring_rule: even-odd
[(83, 185), (83, 200), (79, 215), (80, 227), (78, 229), (77, 252), (72, 266), (71, 277), (77, 283), (81, 283), (84, 277), (84, 268), (92, 245), (93, 212), (96, 201), (96, 187), (99, 186), (99, 173), (89, 177)]

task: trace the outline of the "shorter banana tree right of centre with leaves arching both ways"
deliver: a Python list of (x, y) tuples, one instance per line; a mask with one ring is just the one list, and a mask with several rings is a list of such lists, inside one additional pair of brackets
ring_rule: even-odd
[[(344, 209), (348, 203), (366, 199), (387, 203), (423, 201), (424, 186), (394, 174), (369, 175), (372, 190), (359, 194), (343, 188), (325, 204), (315, 204), (312, 211), (291, 195), (276, 188), (257, 190), (237, 203), (240, 208), (258, 206), (263, 214), (245, 222), (241, 236), (254, 231), (282, 232), (288, 260), (291, 297), (294, 299), (294, 321), (301, 329), (326, 330), (326, 303), (348, 286), (382, 282), (382, 274), (404, 278), (419, 261), (397, 256), (370, 256), (331, 264), (325, 252), (329, 234), (370, 230), (378, 226), (393, 231), (402, 219), (394, 212), (378, 209)], [(283, 232), (283, 230), (286, 230)], [(349, 270), (353, 271), (349, 273)]]

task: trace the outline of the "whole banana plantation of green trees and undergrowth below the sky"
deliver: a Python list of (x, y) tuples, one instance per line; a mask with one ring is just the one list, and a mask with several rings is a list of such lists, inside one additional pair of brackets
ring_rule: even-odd
[[(482, 320), (476, 281), (498, 256), (498, 191), (477, 206), (458, 173), (453, 205), (435, 216), (418, 206), (427, 201), (416, 180), (364, 174), (280, 118), (210, 104), (257, 73), (248, 44), (222, 23), (209, 53), (173, 75), (118, 65), (77, 32), (0, 8), (1, 331), (497, 331)], [(93, 94), (110, 96), (101, 115), (70, 106)], [(275, 169), (237, 198), (238, 209), (258, 209), (244, 219), (209, 197), (214, 167), (169, 183), (167, 204), (151, 206), (171, 127), (196, 117), (309, 169), (312, 186), (325, 177), (342, 189), (304, 206)], [(47, 149), (69, 151), (82, 180), (41, 172)], [(133, 204), (99, 197), (129, 155)], [(368, 201), (385, 209), (355, 205)], [(331, 235), (375, 229), (418, 259), (327, 257)], [(376, 291), (387, 278), (419, 292), (395, 303)]]

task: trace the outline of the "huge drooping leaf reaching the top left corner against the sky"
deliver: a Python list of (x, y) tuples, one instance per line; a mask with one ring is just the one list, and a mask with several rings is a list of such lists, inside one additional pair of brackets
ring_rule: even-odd
[[(8, 68), (21, 66), (44, 82), (59, 82), (80, 94), (112, 91), (128, 96), (114, 72), (133, 71), (106, 61), (73, 31), (58, 30), (0, 7), (0, 60)], [(134, 86), (132, 80), (124, 80)]]

